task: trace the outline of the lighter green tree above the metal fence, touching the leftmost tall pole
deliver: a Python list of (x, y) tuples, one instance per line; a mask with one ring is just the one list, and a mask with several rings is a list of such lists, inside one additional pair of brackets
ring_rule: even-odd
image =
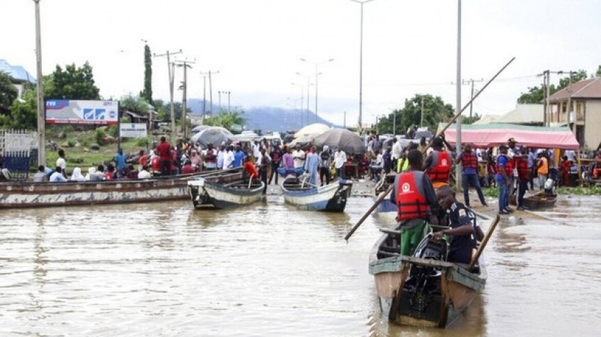
[(20, 100), (11, 104), (10, 115), (0, 116), (3, 128), (35, 130), (37, 128), (37, 93), (31, 86), (26, 86)]

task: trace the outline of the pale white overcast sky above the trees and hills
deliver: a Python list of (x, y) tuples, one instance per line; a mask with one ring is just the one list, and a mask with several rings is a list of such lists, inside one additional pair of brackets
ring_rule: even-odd
[[(194, 62), (189, 98), (203, 98), (201, 73), (210, 70), (215, 106), (224, 91), (239, 109), (301, 109), (301, 101), (307, 109), (309, 91), (315, 111), (317, 87), (319, 116), (342, 124), (346, 113), (347, 125), (359, 119), (361, 5), (351, 0), (41, 0), (40, 8), (43, 74), (88, 61), (104, 98), (141, 91), (145, 40), (153, 53), (181, 49), (172, 60)], [(35, 76), (34, 2), (0, 0), (0, 13), (0, 59)], [(462, 79), (483, 80), (475, 82), (479, 89), (516, 58), (474, 101), (474, 112), (512, 110), (521, 92), (542, 83), (544, 70), (594, 73), (598, 13), (597, 0), (463, 0)], [(415, 94), (456, 106), (457, 0), (365, 3), (362, 51), (364, 124)], [(177, 68), (176, 83), (182, 79)], [(153, 98), (168, 100), (165, 57), (153, 58), (152, 82)], [(461, 90), (464, 105), (471, 88)]]

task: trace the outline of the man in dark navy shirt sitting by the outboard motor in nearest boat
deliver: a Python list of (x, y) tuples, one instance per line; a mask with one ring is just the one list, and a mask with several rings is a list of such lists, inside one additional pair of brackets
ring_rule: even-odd
[(447, 212), (451, 228), (437, 231), (432, 237), (438, 241), (445, 235), (452, 236), (447, 261), (469, 264), (476, 251), (477, 239), (484, 238), (476, 216), (471, 209), (455, 199), (455, 191), (448, 185), (439, 188), (436, 197), (442, 209)]

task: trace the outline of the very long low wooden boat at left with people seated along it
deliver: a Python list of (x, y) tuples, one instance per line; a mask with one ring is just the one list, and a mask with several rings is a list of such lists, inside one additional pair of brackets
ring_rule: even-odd
[(188, 180), (198, 176), (213, 182), (242, 177), (242, 170), (86, 182), (0, 183), (0, 208), (141, 203), (188, 198)]

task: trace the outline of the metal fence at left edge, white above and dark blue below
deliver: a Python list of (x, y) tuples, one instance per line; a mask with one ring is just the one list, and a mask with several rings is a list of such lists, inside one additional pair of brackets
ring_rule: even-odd
[(28, 130), (0, 129), (0, 166), (13, 179), (26, 180), (29, 168), (37, 163), (37, 133)]

